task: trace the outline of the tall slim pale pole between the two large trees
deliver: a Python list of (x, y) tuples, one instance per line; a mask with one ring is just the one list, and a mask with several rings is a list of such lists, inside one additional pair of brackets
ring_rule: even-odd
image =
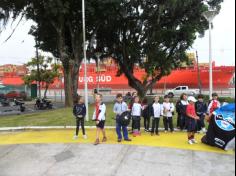
[(87, 79), (87, 47), (86, 30), (85, 30), (85, 2), (82, 0), (82, 18), (83, 18), (83, 47), (84, 47), (84, 97), (87, 108), (86, 120), (89, 121), (89, 106), (88, 106), (88, 79)]

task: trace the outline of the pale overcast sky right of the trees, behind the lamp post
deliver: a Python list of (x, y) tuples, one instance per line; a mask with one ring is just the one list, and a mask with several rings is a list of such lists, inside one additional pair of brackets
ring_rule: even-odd
[[(213, 59), (217, 65), (235, 65), (235, 1), (225, 0), (213, 23)], [(198, 50), (200, 62), (209, 61), (208, 31), (204, 38), (196, 40), (194, 48)]]

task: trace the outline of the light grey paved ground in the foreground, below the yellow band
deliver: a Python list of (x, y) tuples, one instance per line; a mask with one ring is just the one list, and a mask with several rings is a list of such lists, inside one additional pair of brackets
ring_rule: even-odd
[(124, 145), (0, 146), (0, 176), (234, 176), (235, 156)]

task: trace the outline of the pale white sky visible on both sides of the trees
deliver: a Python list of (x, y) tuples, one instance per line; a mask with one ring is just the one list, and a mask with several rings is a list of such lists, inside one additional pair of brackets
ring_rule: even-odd
[[(216, 65), (235, 66), (235, 1), (224, 0), (221, 13), (213, 21), (213, 60)], [(4, 42), (16, 26), (9, 24), (0, 34), (0, 65), (21, 65), (35, 56), (35, 41), (28, 35), (32, 21), (22, 21), (16, 32)], [(201, 63), (209, 62), (209, 32), (198, 38), (190, 52), (198, 51)]]

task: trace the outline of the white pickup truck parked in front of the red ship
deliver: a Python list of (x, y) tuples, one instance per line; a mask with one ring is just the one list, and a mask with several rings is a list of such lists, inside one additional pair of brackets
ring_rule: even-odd
[(186, 93), (187, 95), (198, 95), (200, 93), (199, 89), (189, 89), (188, 86), (179, 86), (175, 89), (167, 90), (165, 95), (169, 95), (170, 97), (180, 96), (181, 94)]

